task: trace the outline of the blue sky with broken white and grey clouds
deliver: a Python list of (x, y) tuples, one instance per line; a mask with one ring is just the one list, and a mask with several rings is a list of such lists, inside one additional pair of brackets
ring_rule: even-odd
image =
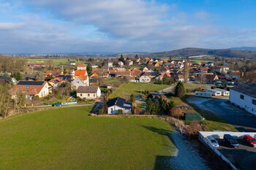
[(253, 0), (0, 0), (0, 53), (256, 46)]

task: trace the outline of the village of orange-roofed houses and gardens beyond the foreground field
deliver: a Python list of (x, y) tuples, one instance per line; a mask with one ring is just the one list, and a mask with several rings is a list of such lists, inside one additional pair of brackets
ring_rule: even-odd
[[(246, 64), (243, 65), (246, 61), (241, 59), (120, 55), (118, 58), (65, 58), (59, 63), (55, 63), (58, 61), (55, 58), (16, 60), (22, 63), (20, 70), (8, 72), (7, 68), (1, 73), (1, 85), (10, 94), (9, 101), (4, 98), (1, 102), (9, 112), (1, 112), (1, 117), (51, 107), (79, 106), (91, 106), (89, 112), (93, 117), (165, 117), (167, 123), (189, 139), (199, 135), (231, 167), (235, 167), (233, 163), (243, 153), (237, 151), (232, 158), (235, 162), (226, 161), (229, 151), (226, 147), (215, 150), (208, 142), (206, 131), (256, 131), (255, 118), (248, 116), (256, 115), (255, 79), (251, 72), (246, 72)], [(8, 104), (13, 107), (7, 107)], [(225, 110), (226, 105), (233, 110)], [(236, 120), (223, 112), (244, 112), (244, 115)], [(212, 156), (208, 155), (208, 159)]]

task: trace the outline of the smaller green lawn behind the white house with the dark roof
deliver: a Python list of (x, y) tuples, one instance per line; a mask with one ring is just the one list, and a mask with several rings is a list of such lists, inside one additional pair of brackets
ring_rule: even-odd
[(131, 94), (142, 95), (140, 91), (144, 92), (145, 90), (149, 90), (151, 92), (156, 92), (168, 87), (170, 87), (170, 85), (157, 85), (143, 82), (126, 82), (117, 88), (110, 96), (110, 98), (121, 97), (128, 99), (129, 95)]

